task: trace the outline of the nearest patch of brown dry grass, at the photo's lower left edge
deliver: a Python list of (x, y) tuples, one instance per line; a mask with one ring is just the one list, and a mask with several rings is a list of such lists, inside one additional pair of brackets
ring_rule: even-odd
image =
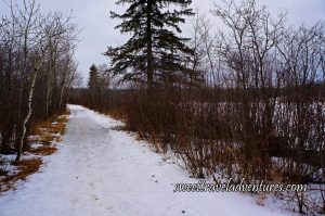
[(14, 183), (17, 180), (26, 180), (27, 176), (35, 174), (38, 171), (39, 167), (42, 164), (41, 158), (31, 158), (31, 160), (24, 160), (18, 163), (15, 163), (15, 165), (18, 167), (21, 171), (18, 171), (15, 175), (8, 176), (0, 180), (0, 192), (8, 191), (10, 189), (14, 189)]

